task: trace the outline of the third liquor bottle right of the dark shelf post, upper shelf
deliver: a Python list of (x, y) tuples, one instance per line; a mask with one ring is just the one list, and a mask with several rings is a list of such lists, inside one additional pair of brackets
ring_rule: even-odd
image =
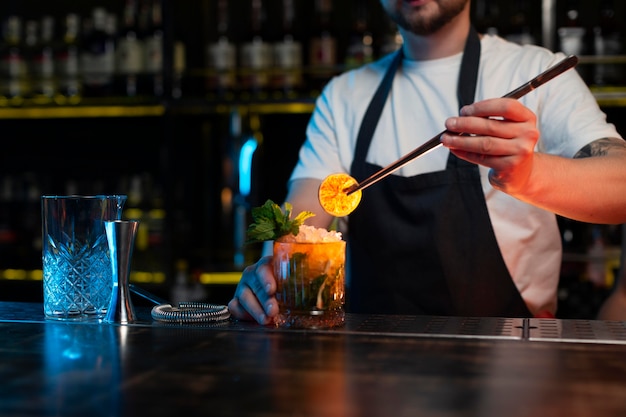
[(296, 39), (294, 0), (283, 0), (283, 34), (274, 43), (272, 87), (279, 95), (293, 98), (302, 86), (302, 44)]

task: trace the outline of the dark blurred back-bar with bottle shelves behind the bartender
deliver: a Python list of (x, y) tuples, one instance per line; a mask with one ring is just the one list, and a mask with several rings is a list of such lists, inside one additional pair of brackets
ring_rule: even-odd
[[(98, 8), (105, 11), (99, 38), (92, 36)], [(560, 28), (583, 28), (577, 69), (608, 120), (626, 132), (624, 33), (612, 23), (626, 19), (626, 2), (473, 0), (472, 14), (480, 31), (553, 50)], [(42, 28), (50, 17), (48, 43)], [(15, 18), (17, 40), (7, 31)], [(131, 281), (164, 299), (227, 302), (260, 252), (241, 243), (250, 208), (284, 199), (321, 88), (400, 45), (379, 0), (6, 0), (0, 19), (0, 298), (8, 300), (41, 297), (42, 194), (125, 193), (124, 215), (141, 221)], [(284, 53), (296, 45), (300, 54), (246, 65), (254, 36), (264, 48)], [(129, 49), (136, 41), (152, 51), (140, 67), (128, 60), (137, 57)], [(598, 53), (605, 41), (613, 49)], [(89, 57), (90, 47), (106, 42), (117, 52), (107, 55), (113, 67), (100, 68), (109, 71), (104, 86), (88, 82), (89, 73), (67, 72), (64, 53)], [(228, 55), (217, 59), (217, 50), (234, 54), (233, 66), (222, 65)], [(50, 58), (52, 78), (41, 65)], [(607, 68), (619, 77), (603, 77)], [(75, 91), (60, 88), (68, 74)], [(609, 279), (599, 285), (588, 276), (593, 231), (615, 247), (617, 226), (567, 219), (559, 226), (561, 314), (590, 318), (611, 290)]]

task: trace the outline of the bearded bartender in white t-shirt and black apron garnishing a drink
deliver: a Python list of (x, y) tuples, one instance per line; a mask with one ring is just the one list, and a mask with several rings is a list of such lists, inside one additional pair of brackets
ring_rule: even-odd
[[(626, 222), (626, 142), (576, 71), (520, 100), (494, 98), (564, 55), (476, 33), (470, 0), (381, 3), (403, 46), (327, 84), (286, 201), (327, 228), (324, 178), (362, 181), (445, 127), (443, 147), (367, 188), (344, 219), (348, 311), (554, 316), (555, 214)], [(244, 270), (231, 314), (271, 323), (275, 291), (265, 256)]]

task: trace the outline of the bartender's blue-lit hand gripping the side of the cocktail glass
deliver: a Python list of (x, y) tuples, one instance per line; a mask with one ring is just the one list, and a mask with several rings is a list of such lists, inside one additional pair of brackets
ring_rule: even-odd
[(239, 320), (256, 320), (263, 325), (274, 322), (278, 302), (271, 256), (265, 256), (244, 269), (228, 309)]

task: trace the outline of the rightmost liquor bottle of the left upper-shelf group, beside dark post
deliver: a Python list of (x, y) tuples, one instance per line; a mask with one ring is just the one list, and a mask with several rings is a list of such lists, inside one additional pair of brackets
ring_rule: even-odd
[[(161, 0), (146, 0), (147, 32), (143, 38), (145, 72), (148, 94), (162, 97), (165, 93), (163, 79), (163, 9)], [(142, 6), (143, 7), (143, 6)]]

